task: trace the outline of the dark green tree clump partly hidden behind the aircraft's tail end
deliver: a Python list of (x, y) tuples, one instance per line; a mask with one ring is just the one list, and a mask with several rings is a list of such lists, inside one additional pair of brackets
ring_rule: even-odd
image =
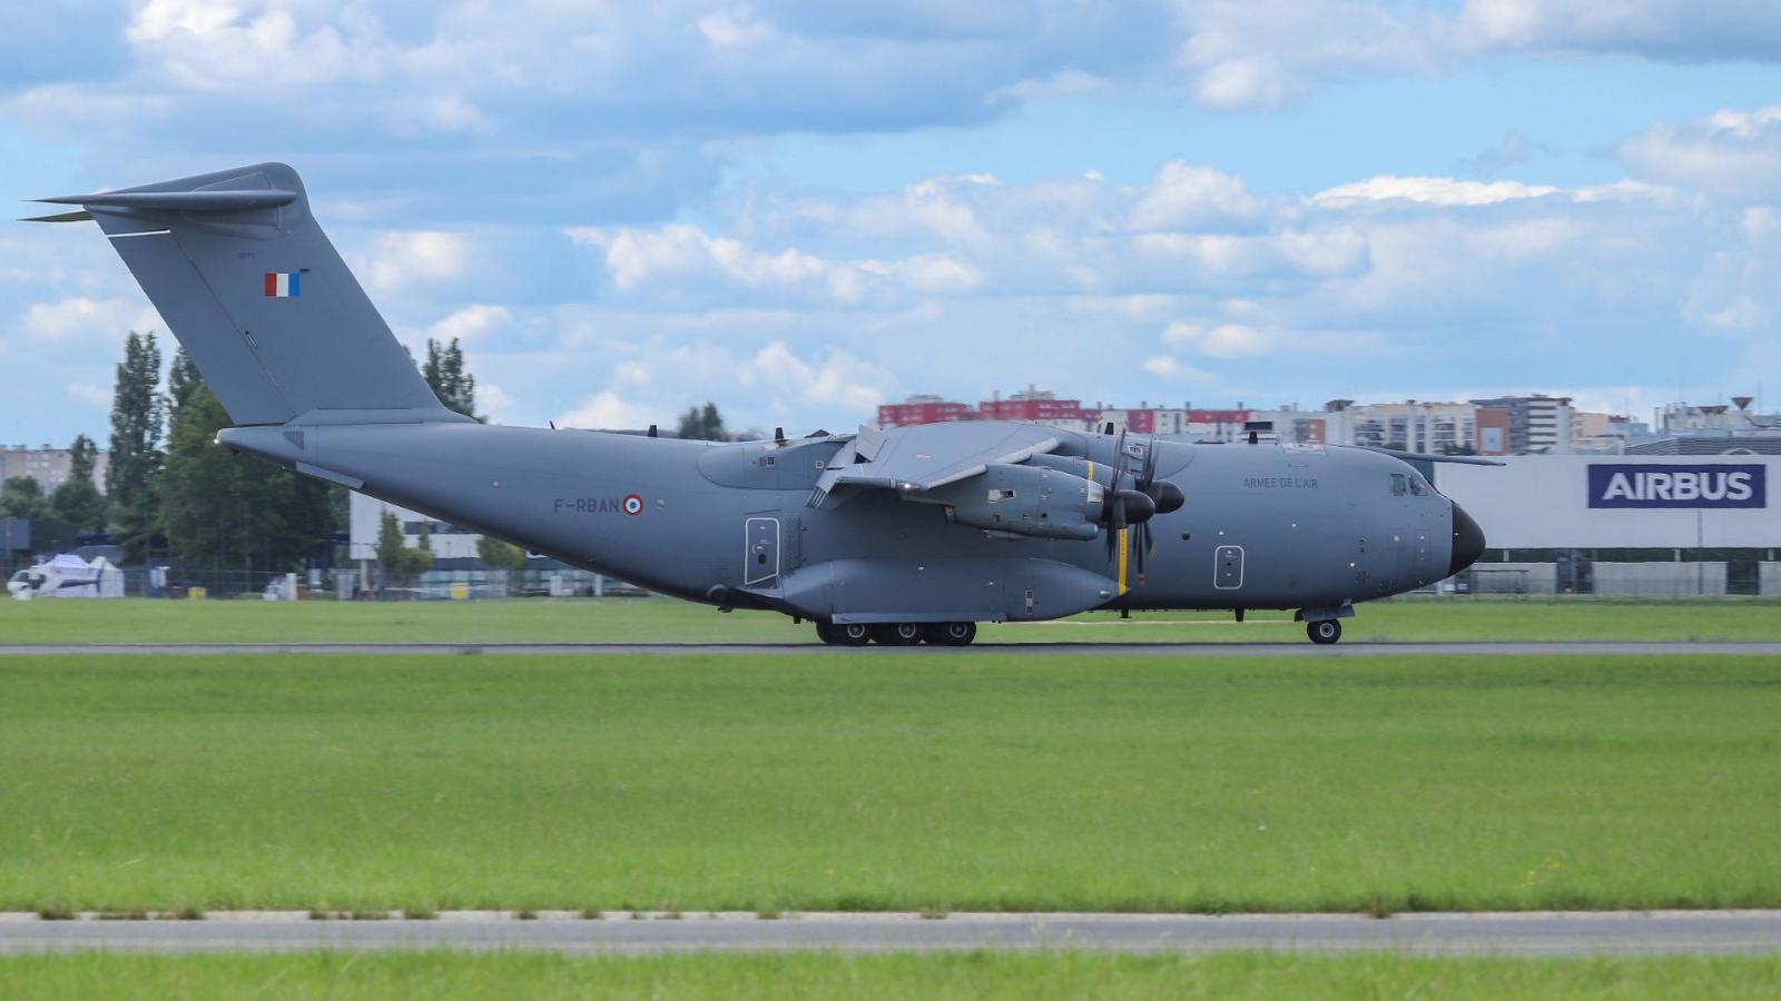
[(216, 570), (303, 566), (338, 524), (333, 484), (216, 445), (228, 413), (180, 353), (167, 379), (173, 420), (160, 474), (160, 527), (173, 557)]

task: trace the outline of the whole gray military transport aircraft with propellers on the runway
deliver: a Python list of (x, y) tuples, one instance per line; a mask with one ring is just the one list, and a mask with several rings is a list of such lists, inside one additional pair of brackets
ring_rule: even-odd
[(490, 427), (427, 388), (290, 167), (43, 201), (78, 208), (32, 221), (110, 239), (239, 424), (223, 447), (828, 643), (965, 645), (978, 622), (1088, 609), (1293, 609), (1334, 643), (1354, 602), (1484, 550), (1405, 461), (1435, 456), (1010, 422), (736, 444)]

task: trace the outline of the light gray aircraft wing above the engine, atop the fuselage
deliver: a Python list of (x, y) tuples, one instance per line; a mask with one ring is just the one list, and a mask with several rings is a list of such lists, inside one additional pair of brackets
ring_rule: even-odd
[(1049, 427), (1037, 424), (919, 424), (914, 427), (860, 427), (816, 481), (810, 508), (834, 508), (844, 490), (917, 492), (969, 479), (990, 463), (1021, 463), (1058, 447)]

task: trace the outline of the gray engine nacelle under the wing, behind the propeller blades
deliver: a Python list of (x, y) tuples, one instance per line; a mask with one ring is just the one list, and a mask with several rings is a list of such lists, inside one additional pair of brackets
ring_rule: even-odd
[(1045, 467), (990, 463), (981, 476), (908, 495), (960, 525), (1038, 538), (1101, 534), (1101, 484)]

